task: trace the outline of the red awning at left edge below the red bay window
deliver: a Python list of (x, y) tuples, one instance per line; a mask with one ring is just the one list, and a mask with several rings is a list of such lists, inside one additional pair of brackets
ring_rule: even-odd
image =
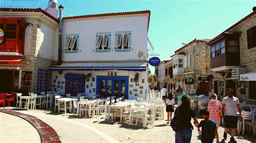
[(22, 59), (26, 56), (0, 55), (0, 65), (20, 65)]

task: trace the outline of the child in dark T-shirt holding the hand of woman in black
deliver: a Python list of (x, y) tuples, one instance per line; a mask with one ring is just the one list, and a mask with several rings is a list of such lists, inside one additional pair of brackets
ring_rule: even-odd
[[(209, 119), (209, 111), (202, 109), (200, 111), (201, 117), (204, 119), (200, 121), (199, 127), (202, 127), (202, 138), (201, 142), (213, 142), (214, 134), (217, 142), (219, 142), (219, 135), (217, 131), (217, 124), (214, 120)], [(198, 130), (200, 131), (200, 128)]]

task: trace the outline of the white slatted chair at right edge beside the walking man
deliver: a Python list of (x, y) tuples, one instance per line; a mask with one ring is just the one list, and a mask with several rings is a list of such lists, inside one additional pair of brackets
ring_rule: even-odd
[[(252, 126), (252, 130), (253, 130), (253, 135), (255, 135), (254, 132), (254, 112), (247, 112), (242, 110), (242, 121), (240, 122), (240, 126), (242, 126), (242, 134), (244, 134), (245, 132), (245, 125), (248, 125), (249, 127)], [(250, 128), (250, 132), (251, 132), (251, 128)]]

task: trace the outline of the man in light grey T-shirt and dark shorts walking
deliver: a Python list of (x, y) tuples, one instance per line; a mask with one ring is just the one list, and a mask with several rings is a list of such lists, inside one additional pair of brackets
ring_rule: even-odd
[[(234, 90), (231, 88), (227, 89), (227, 97), (223, 98), (223, 104), (222, 104), (222, 117), (224, 118), (225, 121), (225, 131), (223, 138), (226, 140), (227, 139), (227, 131), (229, 128), (231, 128), (231, 142), (237, 142), (234, 139), (234, 134), (235, 134), (235, 129), (237, 128), (237, 122), (238, 122), (238, 117), (237, 117), (237, 109), (240, 114), (240, 119), (242, 119), (241, 115), (241, 109), (239, 105), (239, 99), (237, 97), (233, 96)], [(224, 114), (225, 110), (225, 114)]]

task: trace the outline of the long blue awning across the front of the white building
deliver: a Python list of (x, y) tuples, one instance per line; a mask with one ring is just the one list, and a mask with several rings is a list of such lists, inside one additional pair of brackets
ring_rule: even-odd
[(102, 63), (62, 63), (58, 67), (51, 67), (50, 70), (84, 70), (84, 71), (104, 71), (104, 70), (124, 70), (124, 71), (146, 71), (145, 62), (102, 62)]

